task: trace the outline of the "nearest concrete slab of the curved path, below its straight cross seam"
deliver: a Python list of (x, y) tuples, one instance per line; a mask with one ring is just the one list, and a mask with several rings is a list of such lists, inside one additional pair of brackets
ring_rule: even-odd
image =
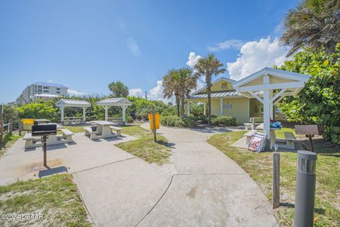
[(174, 176), (138, 226), (278, 226), (248, 175)]

